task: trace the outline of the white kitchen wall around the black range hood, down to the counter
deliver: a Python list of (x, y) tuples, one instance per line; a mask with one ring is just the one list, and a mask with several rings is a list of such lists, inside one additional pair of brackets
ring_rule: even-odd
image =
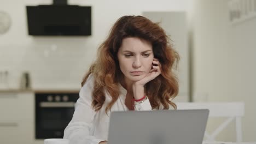
[(78, 89), (95, 59), (98, 45), (109, 28), (123, 15), (142, 11), (184, 11), (188, 0), (164, 1), (69, 1), (92, 6), (92, 35), (89, 37), (32, 37), (27, 34), (25, 5), (51, 4), (49, 0), (1, 0), (0, 10), (10, 14), (12, 25), (0, 35), (0, 69), (10, 71), (10, 87), (18, 88), (22, 71), (31, 74), (34, 89)]

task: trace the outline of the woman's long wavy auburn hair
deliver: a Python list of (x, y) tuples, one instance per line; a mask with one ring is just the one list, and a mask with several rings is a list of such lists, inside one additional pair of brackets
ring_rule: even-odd
[(154, 57), (161, 63), (161, 74), (144, 86), (146, 95), (153, 109), (169, 109), (170, 105), (177, 106), (171, 100), (179, 91), (178, 79), (174, 74), (179, 61), (178, 53), (172, 48), (170, 39), (158, 23), (154, 23), (143, 16), (123, 16), (114, 23), (107, 39), (98, 47), (96, 61), (85, 74), (82, 86), (89, 75), (94, 76), (94, 89), (92, 91), (92, 107), (95, 111), (101, 109), (106, 100), (105, 90), (112, 100), (106, 107), (111, 109), (119, 98), (119, 83), (124, 77), (118, 62), (118, 50), (124, 38), (136, 37), (150, 41), (153, 46)]

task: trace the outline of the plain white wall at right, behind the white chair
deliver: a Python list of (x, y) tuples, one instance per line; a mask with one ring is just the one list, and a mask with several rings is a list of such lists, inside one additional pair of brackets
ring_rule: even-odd
[[(244, 101), (243, 141), (256, 141), (256, 17), (230, 25), (228, 1), (194, 2), (194, 99)], [(217, 139), (235, 141), (234, 126), (232, 123)]]

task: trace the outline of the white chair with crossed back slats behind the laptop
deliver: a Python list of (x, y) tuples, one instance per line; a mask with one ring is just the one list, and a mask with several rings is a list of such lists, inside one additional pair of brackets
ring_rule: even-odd
[(236, 142), (242, 142), (241, 117), (245, 113), (244, 103), (176, 103), (178, 110), (186, 109), (208, 109), (209, 117), (226, 117), (226, 121), (219, 125), (210, 135), (205, 132), (206, 141), (216, 141), (216, 136), (233, 119), (236, 122)]

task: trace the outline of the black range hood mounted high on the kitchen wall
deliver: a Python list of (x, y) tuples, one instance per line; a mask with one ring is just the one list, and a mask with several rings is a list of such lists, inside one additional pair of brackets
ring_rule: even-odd
[(26, 10), (29, 35), (91, 35), (91, 7), (54, 1)]

